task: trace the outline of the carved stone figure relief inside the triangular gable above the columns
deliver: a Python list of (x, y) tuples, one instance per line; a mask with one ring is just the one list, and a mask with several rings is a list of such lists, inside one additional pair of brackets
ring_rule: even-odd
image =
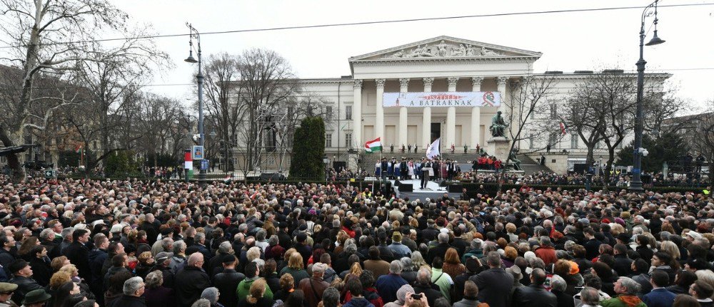
[(434, 43), (429, 45), (418, 45), (416, 48), (396, 51), (383, 58), (451, 58), (466, 56), (503, 56), (503, 53), (486, 49), (486, 47), (473, 46), (471, 44), (459, 43)]

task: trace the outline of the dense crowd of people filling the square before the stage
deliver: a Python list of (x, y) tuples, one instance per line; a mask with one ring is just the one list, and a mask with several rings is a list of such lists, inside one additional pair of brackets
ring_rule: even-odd
[(714, 199), (0, 177), (0, 306), (714, 306)]

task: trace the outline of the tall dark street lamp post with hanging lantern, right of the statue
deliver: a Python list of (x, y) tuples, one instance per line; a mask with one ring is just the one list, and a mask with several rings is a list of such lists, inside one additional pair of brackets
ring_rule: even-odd
[[(643, 58), (644, 46), (654, 46), (664, 43), (661, 38), (657, 36), (657, 2), (655, 0), (653, 3), (645, 7), (642, 11), (642, 19), (640, 26), (640, 59), (637, 61), (637, 113), (635, 113), (635, 146), (633, 155), (633, 169), (632, 169), (632, 181), (630, 182), (630, 191), (640, 192), (642, 191), (642, 179), (640, 179), (640, 167), (642, 164), (642, 130), (643, 130), (643, 106), (642, 106), (642, 92), (645, 83), (645, 64), (647, 61)], [(651, 13), (650, 9), (655, 9), (655, 20), (653, 21), (655, 25), (655, 33), (653, 38), (645, 44), (645, 17), (649, 16)]]

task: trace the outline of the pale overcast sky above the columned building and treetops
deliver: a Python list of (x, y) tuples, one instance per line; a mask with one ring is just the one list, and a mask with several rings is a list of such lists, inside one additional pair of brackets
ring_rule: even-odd
[[(285, 26), (341, 24), (363, 21), (422, 19), (566, 9), (646, 6), (650, 1), (227, 1), (115, 0), (136, 23), (151, 23), (159, 34), (188, 33), (186, 22), (200, 32)], [(714, 0), (663, 0), (660, 5), (714, 4)], [(350, 75), (348, 58), (406, 43), (446, 35), (501, 46), (538, 51), (543, 56), (534, 71), (621, 68), (635, 71), (642, 9), (558, 14), (490, 16), (393, 24), (332, 26), (278, 31), (205, 34), (203, 58), (211, 53), (239, 54), (248, 48), (276, 51), (298, 78), (339, 78)], [(646, 72), (672, 73), (678, 95), (695, 106), (714, 100), (714, 5), (660, 7), (658, 35), (666, 43), (645, 46)], [(652, 38), (653, 17), (645, 20)], [(149, 90), (191, 100), (195, 67), (183, 62), (188, 37), (156, 38), (175, 67), (157, 75)]]

